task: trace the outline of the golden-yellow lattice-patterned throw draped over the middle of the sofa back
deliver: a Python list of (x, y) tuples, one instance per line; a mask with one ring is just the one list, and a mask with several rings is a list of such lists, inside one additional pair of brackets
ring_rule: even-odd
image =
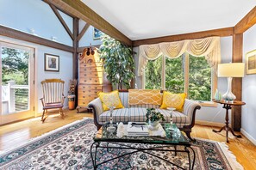
[(129, 105), (161, 105), (162, 95), (157, 89), (129, 89)]

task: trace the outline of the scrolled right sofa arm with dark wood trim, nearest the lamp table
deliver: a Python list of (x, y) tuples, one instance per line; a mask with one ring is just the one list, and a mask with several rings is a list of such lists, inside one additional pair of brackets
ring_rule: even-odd
[(194, 126), (195, 124), (195, 117), (196, 117), (196, 112), (197, 109), (201, 109), (201, 105), (197, 101), (194, 100), (184, 100), (184, 110), (183, 113), (187, 115), (190, 118), (190, 124)]

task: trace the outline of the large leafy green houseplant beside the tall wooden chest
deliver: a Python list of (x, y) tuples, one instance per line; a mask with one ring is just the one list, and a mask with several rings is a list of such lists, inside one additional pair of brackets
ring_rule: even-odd
[(103, 59), (104, 71), (107, 78), (118, 89), (130, 87), (134, 78), (134, 58), (131, 47), (106, 34), (101, 36), (102, 45), (99, 48), (100, 58)]

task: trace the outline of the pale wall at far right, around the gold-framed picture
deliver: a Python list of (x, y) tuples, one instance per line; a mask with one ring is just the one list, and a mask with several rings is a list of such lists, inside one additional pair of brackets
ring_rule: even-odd
[[(246, 63), (246, 53), (256, 50), (256, 25), (244, 33), (243, 61)], [(256, 75), (246, 75), (242, 80), (242, 100), (247, 104), (242, 106), (241, 132), (256, 144)]]

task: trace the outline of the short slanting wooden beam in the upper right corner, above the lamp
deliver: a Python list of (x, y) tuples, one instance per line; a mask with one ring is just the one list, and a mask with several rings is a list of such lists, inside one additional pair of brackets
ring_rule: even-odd
[(256, 23), (256, 6), (243, 17), (235, 26), (234, 33), (244, 33)]

